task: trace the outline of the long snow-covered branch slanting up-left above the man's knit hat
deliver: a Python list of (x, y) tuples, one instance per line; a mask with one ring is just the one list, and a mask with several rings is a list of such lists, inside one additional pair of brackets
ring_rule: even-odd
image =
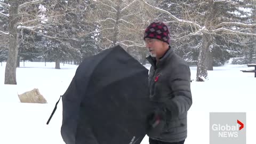
[(157, 11), (160, 11), (160, 12), (163, 12), (163, 13), (165, 13), (165, 14), (168, 14), (173, 20), (175, 20), (175, 21), (177, 21), (177, 22), (192, 24), (192, 25), (196, 26), (196, 27), (199, 28), (199, 29), (202, 28), (202, 26), (198, 25), (196, 22), (179, 19), (179, 18), (175, 17), (173, 14), (171, 14), (171, 13), (168, 12), (168, 11), (165, 11), (165, 10), (163, 10), (163, 9), (159, 9), (158, 7), (155, 7), (155, 6), (152, 6), (152, 5), (148, 4), (147, 2), (145, 2), (145, 0), (141, 0), (141, 1), (142, 1), (143, 3), (145, 3), (146, 6), (148, 6), (148, 7), (151, 7), (151, 8), (153, 8), (153, 9), (157, 10)]

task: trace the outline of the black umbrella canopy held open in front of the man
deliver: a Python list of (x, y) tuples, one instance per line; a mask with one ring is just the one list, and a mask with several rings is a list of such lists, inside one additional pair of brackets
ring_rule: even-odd
[(67, 144), (138, 144), (151, 106), (148, 69), (121, 46), (102, 51), (78, 66), (62, 105)]

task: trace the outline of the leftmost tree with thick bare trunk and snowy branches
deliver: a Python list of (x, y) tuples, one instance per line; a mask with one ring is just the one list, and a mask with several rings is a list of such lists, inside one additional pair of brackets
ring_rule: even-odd
[[(8, 2), (8, 3), (7, 3)], [(8, 31), (0, 31), (0, 33), (9, 36), (9, 55), (6, 62), (5, 68), (5, 81), (4, 84), (17, 84), (16, 82), (16, 66), (18, 57), (18, 30), (19, 29), (33, 29), (34, 25), (29, 25), (30, 22), (39, 21), (37, 15), (34, 14), (34, 19), (29, 19), (27, 21), (20, 22), (23, 15), (29, 15), (29, 12), (24, 13), (23, 9), (28, 11), (33, 11), (31, 5), (36, 5), (43, 2), (42, 0), (35, 1), (18, 1), (10, 0), (7, 2), (0, 2), (0, 5), (5, 7), (9, 13), (0, 12), (0, 17), (5, 17), (8, 19)]]

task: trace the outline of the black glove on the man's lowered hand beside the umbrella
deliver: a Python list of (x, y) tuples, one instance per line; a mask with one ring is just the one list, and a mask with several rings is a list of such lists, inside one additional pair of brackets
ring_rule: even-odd
[(166, 114), (163, 109), (156, 108), (148, 115), (148, 137), (157, 137), (163, 131)]

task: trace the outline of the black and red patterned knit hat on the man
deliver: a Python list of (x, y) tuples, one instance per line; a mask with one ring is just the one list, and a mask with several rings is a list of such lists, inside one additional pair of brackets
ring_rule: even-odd
[(153, 22), (145, 30), (145, 38), (156, 38), (170, 44), (169, 29), (163, 22)]

